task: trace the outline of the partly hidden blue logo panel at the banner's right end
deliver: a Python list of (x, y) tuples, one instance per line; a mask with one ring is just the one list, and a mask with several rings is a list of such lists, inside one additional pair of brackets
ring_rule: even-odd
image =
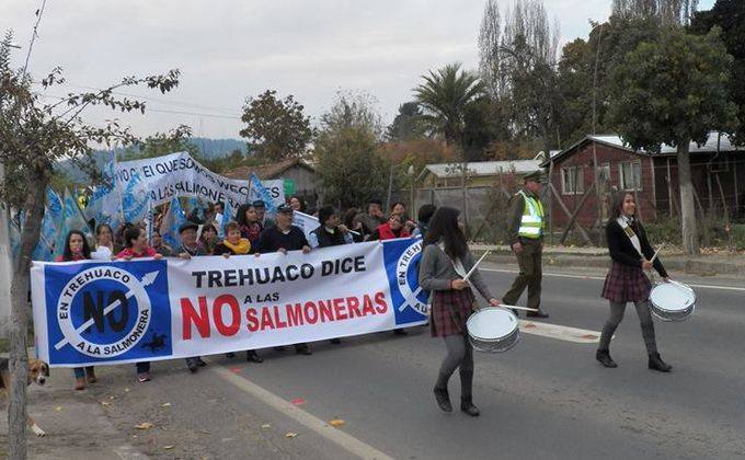
[(427, 315), (428, 294), (419, 286), (422, 243), (422, 239), (401, 239), (383, 245), (397, 324), (421, 321)]

